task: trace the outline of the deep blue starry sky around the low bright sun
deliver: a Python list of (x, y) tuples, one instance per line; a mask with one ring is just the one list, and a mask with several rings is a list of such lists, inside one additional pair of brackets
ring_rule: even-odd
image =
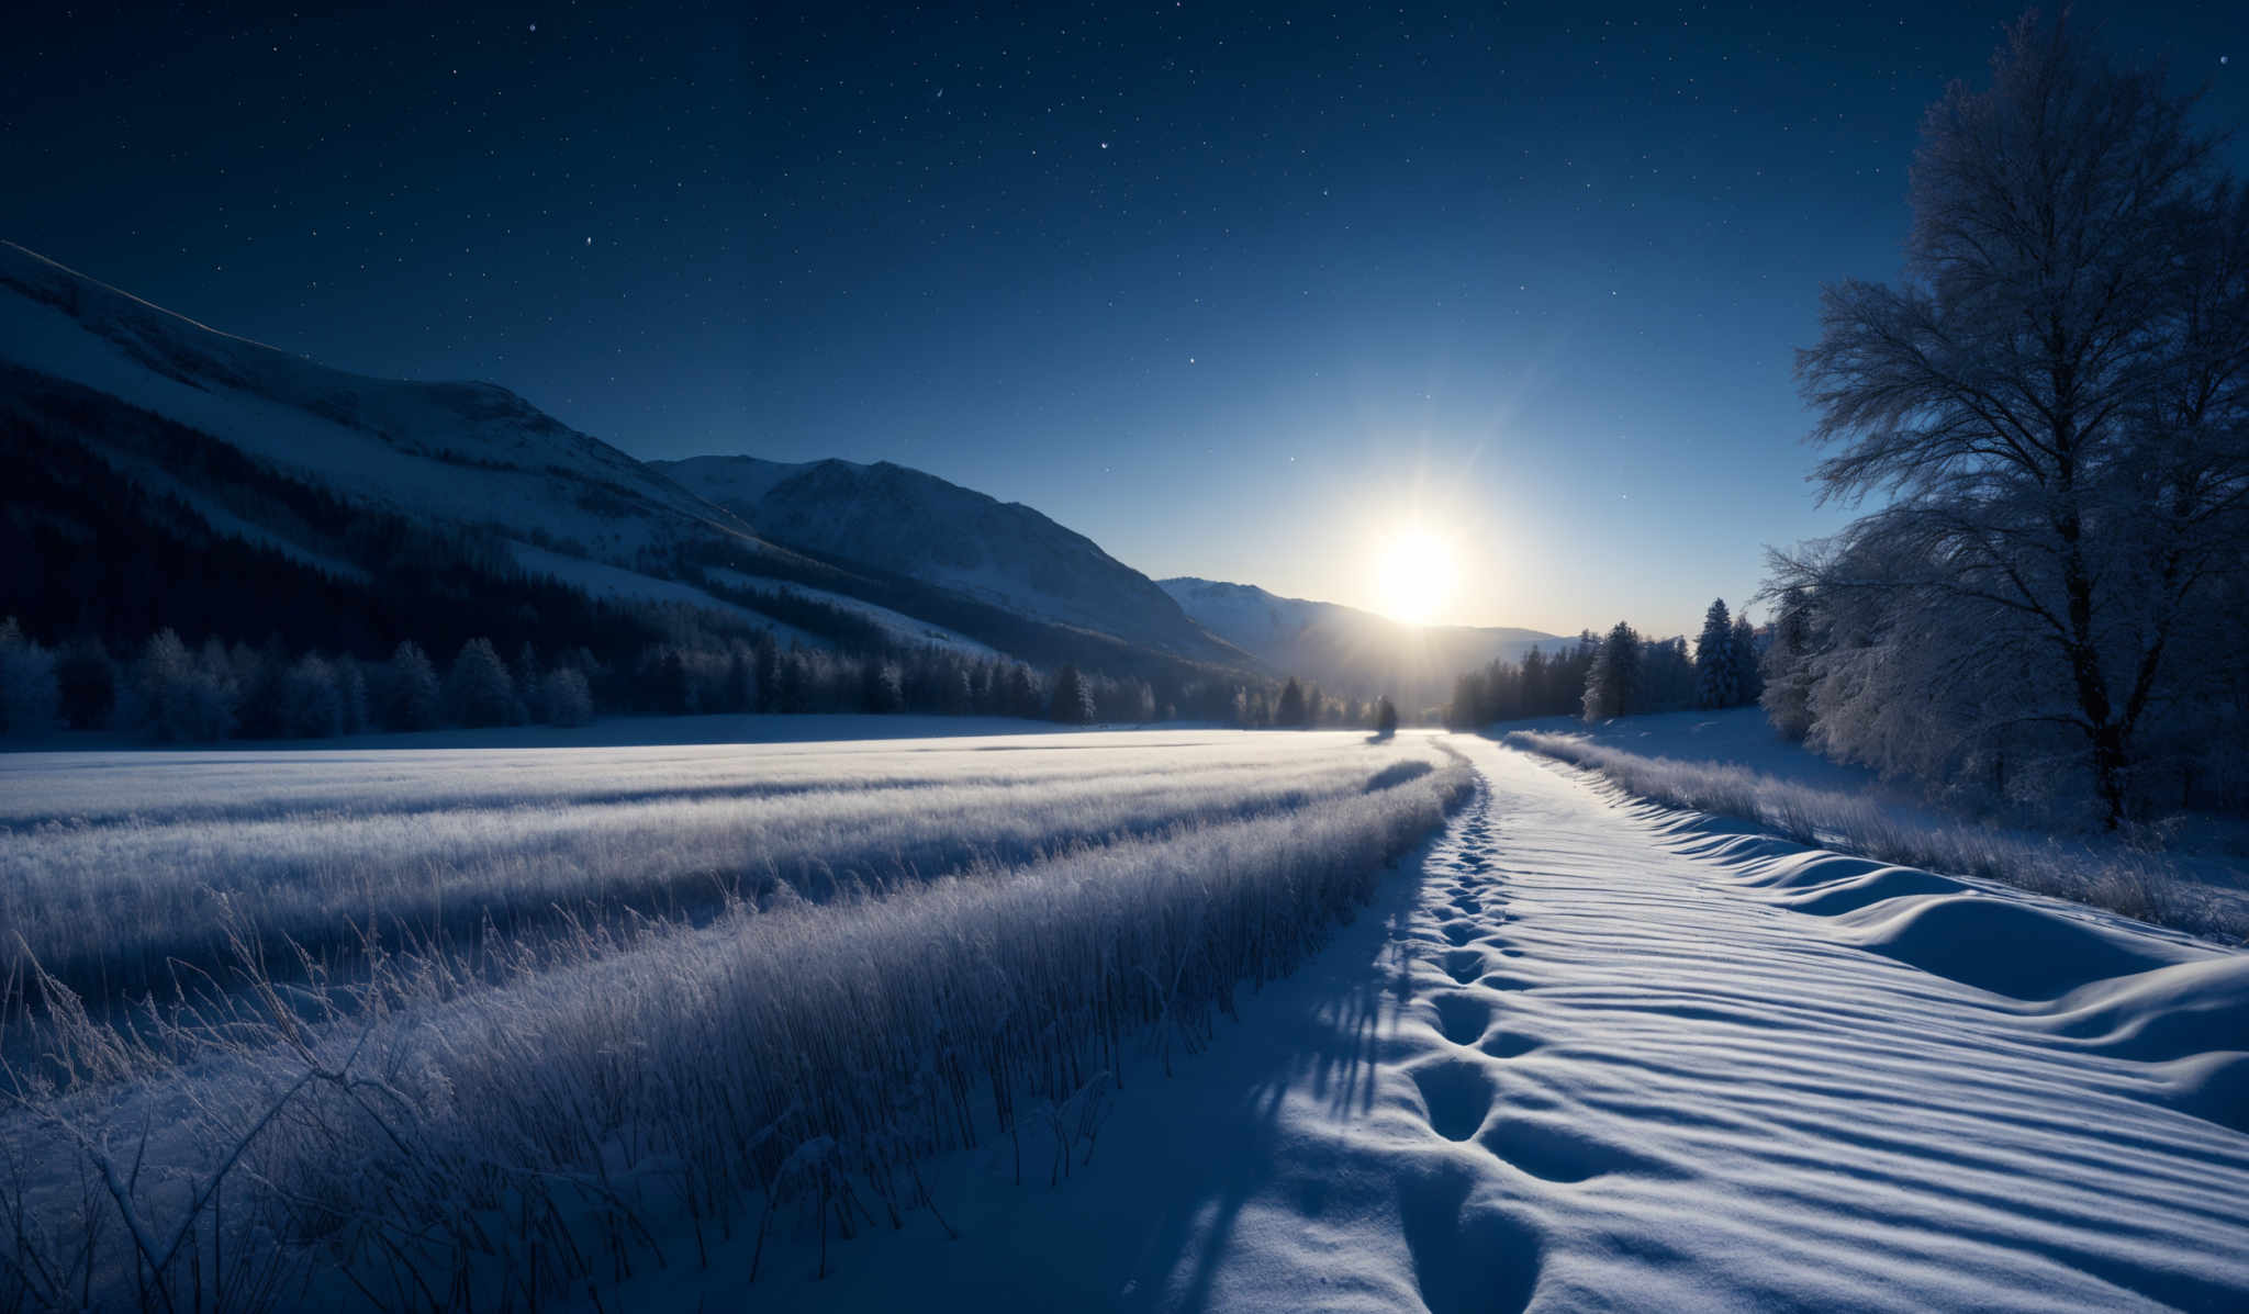
[[(0, 236), (643, 457), (893, 459), (1374, 608), (1419, 522), (1442, 619), (1673, 632), (1840, 522), (1790, 351), (2013, 11), (49, 11)], [(2249, 119), (2238, 4), (2078, 16)]]

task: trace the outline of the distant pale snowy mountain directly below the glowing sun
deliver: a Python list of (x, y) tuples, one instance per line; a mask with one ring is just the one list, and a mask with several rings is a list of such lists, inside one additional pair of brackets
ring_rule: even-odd
[[(1284, 598), (1194, 576), (1156, 580), (1205, 630), (1329, 693), (1388, 693), (1406, 709), (1442, 704), (1453, 677), (1565, 639), (1511, 626), (1406, 626), (1340, 603)], [(1574, 641), (1574, 639), (1570, 639)]]

